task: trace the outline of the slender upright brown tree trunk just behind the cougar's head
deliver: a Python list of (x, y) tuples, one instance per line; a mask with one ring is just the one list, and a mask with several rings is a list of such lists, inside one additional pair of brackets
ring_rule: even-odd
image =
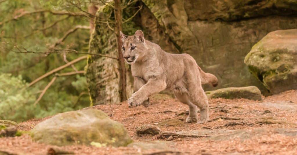
[(125, 62), (123, 59), (123, 53), (121, 50), (122, 40), (120, 36), (120, 31), (122, 31), (122, 8), (121, 8), (121, 0), (114, 0), (114, 16), (115, 16), (115, 33), (116, 33), (116, 48), (118, 50), (118, 58), (119, 58), (119, 72), (120, 72), (120, 80), (119, 80), (119, 97), (120, 101), (127, 100), (127, 92), (126, 92), (126, 68)]

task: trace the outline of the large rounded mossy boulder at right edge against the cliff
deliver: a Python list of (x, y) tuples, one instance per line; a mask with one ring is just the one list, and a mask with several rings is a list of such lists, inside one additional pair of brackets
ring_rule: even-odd
[(297, 89), (297, 29), (268, 33), (252, 47), (244, 63), (272, 93)]

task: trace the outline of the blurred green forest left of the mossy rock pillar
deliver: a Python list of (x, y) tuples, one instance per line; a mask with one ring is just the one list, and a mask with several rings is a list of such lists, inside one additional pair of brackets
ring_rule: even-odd
[[(51, 53), (53, 48), (88, 51), (89, 18), (82, 10), (88, 11), (90, 3), (73, 3), (77, 1), (0, 1), (2, 119), (24, 121), (89, 106), (86, 77), (79, 72), (84, 71), (86, 59), (61, 71), (78, 72), (76, 74), (57, 77), (52, 74), (29, 86), (29, 83), (45, 73), (86, 55)], [(56, 79), (45, 95), (35, 103), (54, 77)]]

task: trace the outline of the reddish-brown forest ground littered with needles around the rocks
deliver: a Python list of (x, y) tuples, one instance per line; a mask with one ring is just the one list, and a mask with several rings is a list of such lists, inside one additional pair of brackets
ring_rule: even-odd
[[(137, 146), (97, 148), (81, 145), (60, 149), (75, 154), (297, 154), (297, 90), (263, 97), (263, 101), (210, 99), (209, 107), (209, 116), (213, 121), (188, 124), (185, 123), (186, 114), (178, 115), (188, 110), (187, 105), (161, 95), (151, 99), (148, 108), (128, 107), (126, 102), (119, 105), (94, 106), (91, 108), (100, 109), (111, 119), (124, 124), (135, 142), (158, 140), (161, 141), (158, 143), (165, 143), (167, 140), (157, 139), (156, 135), (139, 137), (136, 135), (136, 127), (170, 119), (179, 119), (184, 123), (162, 126), (161, 131), (198, 132), (210, 137), (173, 139), (166, 142), (166, 149)], [(22, 122), (18, 129), (30, 130), (47, 118)], [(0, 138), (0, 154), (1, 151), (11, 154), (47, 154), (51, 147), (54, 146), (33, 142), (26, 134), (20, 137)]]

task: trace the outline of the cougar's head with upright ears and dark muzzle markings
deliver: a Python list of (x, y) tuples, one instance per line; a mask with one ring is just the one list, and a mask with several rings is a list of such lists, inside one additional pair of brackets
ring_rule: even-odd
[(140, 62), (146, 54), (143, 32), (137, 30), (134, 36), (127, 36), (120, 31), (122, 38), (122, 53), (128, 64)]

